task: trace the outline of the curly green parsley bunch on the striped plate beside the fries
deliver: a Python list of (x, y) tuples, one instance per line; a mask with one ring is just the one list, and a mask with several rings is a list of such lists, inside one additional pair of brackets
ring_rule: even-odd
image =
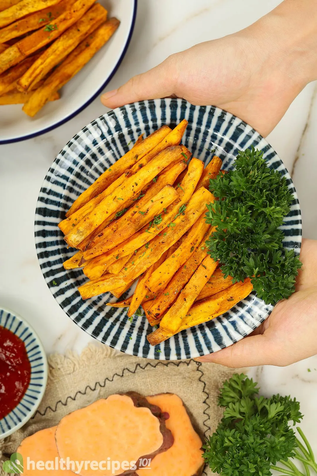
[(233, 282), (252, 278), (257, 295), (276, 304), (295, 291), (301, 262), (293, 250), (283, 250), (279, 229), (293, 195), (285, 177), (269, 169), (260, 150), (240, 151), (235, 169), (210, 180), (219, 198), (207, 205), (206, 222), (217, 230), (206, 241), (211, 257), (221, 262)]

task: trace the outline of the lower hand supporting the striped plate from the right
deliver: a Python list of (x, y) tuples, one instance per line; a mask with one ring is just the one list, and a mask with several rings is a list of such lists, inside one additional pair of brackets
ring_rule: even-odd
[(284, 367), (317, 354), (317, 241), (304, 239), (296, 292), (280, 301), (250, 336), (214, 354), (198, 357), (227, 367)]

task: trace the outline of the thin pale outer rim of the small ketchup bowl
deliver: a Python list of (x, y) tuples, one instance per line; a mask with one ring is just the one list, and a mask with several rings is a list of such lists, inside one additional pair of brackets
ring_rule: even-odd
[[(42, 389), (41, 389), (41, 392), (40, 392), (40, 395), (38, 397), (38, 400), (36, 402), (36, 404), (34, 405), (34, 407), (32, 408), (32, 410), (27, 414), (26, 417), (22, 418), (22, 420), (20, 421), (20, 423), (18, 425), (15, 425), (13, 426), (13, 428), (11, 428), (10, 430), (7, 430), (5, 433), (1, 433), (0, 432), (0, 440), (2, 440), (3, 438), (6, 438), (7, 436), (10, 436), (12, 435), (12, 433), (14, 433), (15, 431), (19, 430), (19, 428), (21, 428), (23, 425), (25, 425), (30, 418), (33, 417), (33, 415), (35, 414), (35, 412), (37, 411), (43, 397), (44, 397), (44, 394), (45, 394), (45, 391), (46, 391), (46, 387), (47, 387), (47, 382), (48, 382), (48, 358), (47, 358), (47, 355), (46, 355), (46, 352), (45, 352), (45, 349), (44, 349), (44, 346), (42, 344), (42, 341), (41, 339), (38, 337), (38, 333), (36, 332), (36, 330), (34, 329), (33, 326), (31, 326), (31, 324), (29, 324), (29, 321), (27, 321), (24, 317), (22, 317), (19, 313), (17, 313), (16, 311), (13, 311), (11, 309), (9, 309), (8, 307), (3, 307), (3, 306), (0, 306), (0, 311), (5, 311), (6, 313), (8, 314), (12, 314), (14, 317), (16, 317), (17, 319), (19, 319), (25, 326), (28, 326), (29, 327), (29, 330), (32, 332), (32, 335), (36, 338), (37, 340), (37, 343), (38, 343), (38, 347), (39, 347), (39, 350), (41, 352), (41, 355), (42, 355), (42, 358), (43, 358), (43, 365), (44, 365), (44, 377), (43, 377), (43, 386), (42, 386)], [(3, 326), (0, 326), (0, 327), (3, 327)], [(5, 327), (6, 328), (6, 327)], [(29, 388), (29, 386), (28, 386)], [(27, 389), (28, 390), (28, 389)], [(26, 391), (27, 391), (26, 390)], [(22, 397), (23, 398), (23, 397)], [(21, 401), (21, 400), (20, 400)], [(19, 402), (20, 403), (20, 402)], [(19, 405), (18, 403), (18, 405)], [(17, 408), (17, 406), (14, 407), (10, 413), (15, 410)], [(10, 415), (10, 413), (8, 413), (8, 415)], [(8, 415), (6, 415), (4, 418), (8, 417)]]

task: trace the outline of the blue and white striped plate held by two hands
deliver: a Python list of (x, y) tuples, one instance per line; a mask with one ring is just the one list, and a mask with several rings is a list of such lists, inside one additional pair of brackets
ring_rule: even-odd
[(282, 227), (284, 246), (300, 251), (301, 216), (293, 182), (268, 142), (242, 120), (221, 109), (193, 106), (183, 99), (142, 101), (94, 120), (58, 154), (44, 180), (35, 217), (38, 260), (53, 296), (79, 327), (110, 347), (140, 357), (175, 360), (215, 352), (250, 334), (272, 310), (251, 293), (222, 316), (151, 347), (146, 335), (153, 328), (144, 316), (130, 322), (125, 309), (107, 307), (106, 302), (114, 301), (110, 293), (83, 301), (77, 291), (86, 281), (82, 270), (63, 268), (63, 261), (74, 254), (74, 249), (67, 249), (58, 222), (65, 218), (75, 198), (125, 154), (139, 134), (148, 135), (163, 124), (174, 127), (184, 118), (189, 124), (183, 144), (205, 164), (217, 155), (223, 160), (223, 169), (231, 169), (238, 150), (253, 145), (263, 150), (269, 167), (285, 175), (295, 198)]

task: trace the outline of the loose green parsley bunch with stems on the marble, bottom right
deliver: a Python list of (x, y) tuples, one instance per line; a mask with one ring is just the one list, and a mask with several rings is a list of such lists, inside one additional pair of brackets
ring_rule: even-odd
[[(234, 374), (220, 391), (219, 405), (225, 407), (217, 430), (203, 446), (205, 461), (221, 476), (267, 476), (271, 469), (288, 476), (309, 476), (317, 472), (312, 449), (298, 428), (306, 447), (289, 426), (303, 415), (291, 397), (258, 397), (257, 383)], [(303, 463), (304, 473), (289, 458)], [(277, 467), (277, 462), (286, 467)]]

